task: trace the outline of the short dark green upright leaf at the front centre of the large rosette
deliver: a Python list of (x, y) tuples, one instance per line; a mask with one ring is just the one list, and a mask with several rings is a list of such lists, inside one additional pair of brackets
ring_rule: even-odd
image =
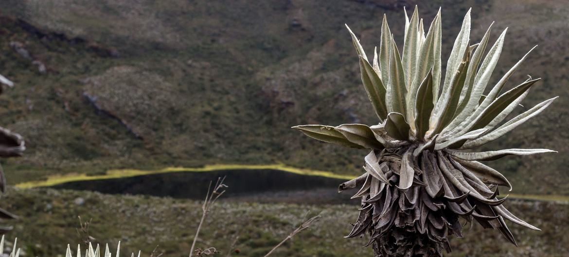
[(432, 109), (435, 107), (432, 103), (432, 69), (419, 86), (417, 92), (417, 100), (415, 101), (415, 127), (417, 130), (417, 138), (423, 140), (425, 132), (428, 130), (429, 119)]

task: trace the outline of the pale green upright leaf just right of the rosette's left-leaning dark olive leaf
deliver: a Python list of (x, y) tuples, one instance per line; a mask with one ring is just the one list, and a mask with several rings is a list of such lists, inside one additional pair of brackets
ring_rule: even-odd
[(388, 112), (406, 113), (405, 98), (407, 87), (405, 86), (405, 73), (401, 64), (399, 50), (393, 36), (391, 36), (391, 58), (389, 69), (389, 86), (387, 87), (387, 99), (391, 99), (391, 108), (387, 106)]

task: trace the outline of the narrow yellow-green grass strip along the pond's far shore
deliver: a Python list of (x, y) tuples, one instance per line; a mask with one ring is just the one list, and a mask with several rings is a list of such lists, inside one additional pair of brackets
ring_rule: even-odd
[[(160, 170), (135, 170), (131, 168), (108, 170), (103, 175), (87, 175), (71, 173), (65, 175), (51, 175), (45, 180), (28, 181), (16, 184), (17, 188), (34, 188), (34, 187), (51, 187), (58, 184), (76, 181), (88, 180), (101, 180), (101, 179), (118, 179), (129, 178), (133, 176), (163, 174), (171, 172), (209, 172), (209, 171), (222, 171), (222, 170), (280, 170), (291, 172), (294, 174), (308, 175), (308, 176), (324, 176), (326, 178), (345, 179), (350, 180), (355, 178), (354, 175), (335, 174), (329, 171), (309, 170), (306, 168), (295, 168), (286, 166), (284, 164), (271, 164), (271, 165), (236, 165), (236, 164), (215, 164), (205, 165), (203, 167), (167, 167)], [(509, 194), (510, 199), (524, 199), (524, 200), (538, 200), (538, 201), (554, 201), (556, 203), (569, 204), (569, 196), (562, 195), (521, 195)]]

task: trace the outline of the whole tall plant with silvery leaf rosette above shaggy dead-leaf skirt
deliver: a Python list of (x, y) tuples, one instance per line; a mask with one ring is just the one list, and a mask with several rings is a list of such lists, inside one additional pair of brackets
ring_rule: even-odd
[(371, 127), (343, 124), (294, 128), (317, 140), (371, 150), (364, 158), (366, 172), (341, 184), (339, 191), (361, 187), (354, 195), (361, 197), (360, 215), (347, 237), (368, 232), (368, 245), (373, 245), (376, 256), (442, 256), (443, 248), (450, 251), (447, 236), (461, 237), (459, 218), (498, 229), (515, 245), (504, 220), (539, 229), (502, 205), (506, 198), (498, 199), (498, 186), (511, 190), (511, 184), (479, 161), (551, 150), (469, 149), (503, 136), (541, 113), (555, 98), (502, 123), (539, 79), (529, 78), (500, 94), (526, 54), (483, 95), (506, 30), (484, 56), (492, 26), (480, 43), (470, 45), (470, 11), (453, 45), (439, 90), (440, 10), (426, 34), (417, 7), (411, 19), (405, 16), (401, 56), (385, 15), (379, 54), (376, 48), (373, 60), (348, 28), (360, 58), (362, 82), (380, 123)]

